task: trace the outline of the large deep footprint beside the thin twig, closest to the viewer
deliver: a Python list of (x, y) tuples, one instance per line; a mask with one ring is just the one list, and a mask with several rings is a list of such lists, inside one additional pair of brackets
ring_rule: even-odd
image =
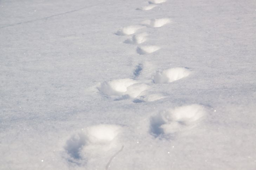
[(88, 157), (98, 153), (106, 154), (108, 150), (116, 146), (117, 136), (122, 132), (119, 125), (97, 125), (91, 126), (78, 134), (72, 135), (67, 140), (64, 149), (68, 154), (68, 161), (78, 165), (84, 163)]

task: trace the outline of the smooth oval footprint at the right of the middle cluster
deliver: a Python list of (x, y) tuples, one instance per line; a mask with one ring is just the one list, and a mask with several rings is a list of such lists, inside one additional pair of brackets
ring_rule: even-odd
[(163, 71), (157, 71), (153, 76), (154, 83), (171, 83), (178, 79), (188, 76), (191, 73), (189, 69), (176, 67), (171, 69), (166, 69)]

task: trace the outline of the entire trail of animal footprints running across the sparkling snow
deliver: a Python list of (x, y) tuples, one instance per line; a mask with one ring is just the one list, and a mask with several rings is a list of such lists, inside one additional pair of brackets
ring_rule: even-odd
[[(149, 1), (148, 5), (139, 7), (136, 10), (151, 10), (165, 1), (152, 0)], [(148, 27), (162, 27), (170, 22), (168, 18), (144, 20), (139, 25), (120, 28), (115, 34), (118, 36), (131, 35), (131, 37), (124, 40), (124, 43), (140, 44), (136, 48), (137, 53), (139, 55), (146, 55), (160, 50), (161, 47), (157, 45), (141, 45), (147, 41), (149, 34), (146, 32), (136, 34), (136, 32)], [(133, 71), (133, 78), (112, 79), (100, 83), (97, 87), (98, 91), (113, 100), (132, 99), (134, 103), (152, 102), (164, 99), (166, 96), (160, 93), (147, 93), (147, 90), (150, 90), (150, 84), (171, 83), (191, 74), (188, 68), (169, 68), (156, 70), (152, 74), (151, 79), (143, 81), (138, 79), (143, 72), (143, 67), (143, 63), (136, 66)], [(169, 136), (175, 136), (196, 126), (196, 122), (201, 120), (205, 113), (206, 109), (204, 106), (198, 104), (167, 108), (148, 118), (148, 132), (153, 137), (166, 137), (168, 139)], [(113, 157), (122, 151), (124, 147), (119, 140), (119, 134), (122, 132), (124, 132), (124, 129), (119, 125), (101, 124), (87, 127), (82, 132), (74, 134), (67, 140), (64, 147), (68, 154), (67, 160), (77, 165), (83, 165), (88, 157), (99, 157), (99, 155), (93, 155), (93, 153), (103, 153), (105, 155), (109, 153), (110, 160), (106, 162), (106, 169), (108, 169)], [(84, 155), (88, 156), (84, 157)]]

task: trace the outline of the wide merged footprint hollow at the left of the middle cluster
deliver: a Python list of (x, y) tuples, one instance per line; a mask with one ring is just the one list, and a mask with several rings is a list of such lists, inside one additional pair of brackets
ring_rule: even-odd
[(101, 83), (98, 90), (110, 96), (122, 96), (117, 100), (123, 100), (135, 98), (148, 88), (146, 84), (140, 84), (136, 80), (125, 78)]

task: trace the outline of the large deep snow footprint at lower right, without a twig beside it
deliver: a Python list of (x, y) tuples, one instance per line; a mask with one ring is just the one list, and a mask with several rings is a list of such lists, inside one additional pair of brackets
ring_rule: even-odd
[(183, 130), (189, 130), (196, 126), (196, 122), (205, 114), (202, 105), (192, 104), (165, 110), (150, 120), (150, 133), (158, 137), (160, 135), (174, 135)]

